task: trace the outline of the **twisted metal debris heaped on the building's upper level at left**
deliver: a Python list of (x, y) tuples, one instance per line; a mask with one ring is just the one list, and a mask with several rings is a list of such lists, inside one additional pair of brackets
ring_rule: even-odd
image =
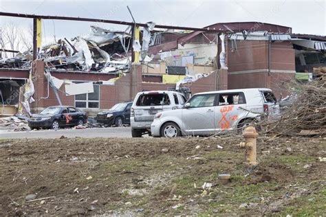
[[(131, 48), (130, 38), (131, 34), (127, 32), (91, 26), (86, 36), (76, 36), (70, 41), (63, 38), (43, 46), (38, 58), (52, 71), (126, 72), (131, 60), (127, 56)], [(0, 68), (28, 69), (31, 61), (32, 51), (19, 53), (14, 58), (1, 58)]]

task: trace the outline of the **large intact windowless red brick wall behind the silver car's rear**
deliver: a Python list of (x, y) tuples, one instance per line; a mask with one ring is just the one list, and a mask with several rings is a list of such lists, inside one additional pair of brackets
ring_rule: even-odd
[[(286, 86), (295, 75), (294, 49), (290, 42), (270, 44), (270, 64), (267, 41), (237, 41), (237, 50), (232, 52), (231, 48), (229, 41), (229, 89), (265, 87), (272, 89), (276, 95), (287, 94)], [(237, 73), (232, 73), (235, 71)]]

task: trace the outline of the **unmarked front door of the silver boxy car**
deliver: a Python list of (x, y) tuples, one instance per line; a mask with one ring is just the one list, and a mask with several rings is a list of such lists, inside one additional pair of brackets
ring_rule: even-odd
[(194, 95), (187, 109), (182, 109), (182, 123), (187, 135), (208, 135), (215, 131), (215, 93)]

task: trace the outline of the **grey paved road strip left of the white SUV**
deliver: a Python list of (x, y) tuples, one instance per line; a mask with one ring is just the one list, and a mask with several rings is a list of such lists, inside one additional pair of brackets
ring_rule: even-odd
[(0, 139), (25, 139), (25, 138), (60, 138), (65, 137), (131, 137), (130, 127), (113, 128), (86, 128), (72, 129), (65, 128), (59, 130), (32, 130), (25, 132), (13, 132), (10, 130), (0, 130)]

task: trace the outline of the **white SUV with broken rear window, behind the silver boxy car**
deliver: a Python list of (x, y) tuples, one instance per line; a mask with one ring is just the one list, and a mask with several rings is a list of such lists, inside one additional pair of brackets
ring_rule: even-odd
[(181, 109), (186, 98), (175, 91), (143, 91), (135, 95), (131, 106), (131, 135), (142, 137), (150, 133), (151, 123), (156, 113)]

